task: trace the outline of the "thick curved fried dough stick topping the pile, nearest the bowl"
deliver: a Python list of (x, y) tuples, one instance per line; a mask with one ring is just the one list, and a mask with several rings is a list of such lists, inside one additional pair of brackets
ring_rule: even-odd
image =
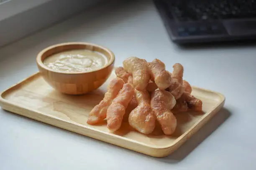
[(137, 90), (144, 90), (150, 79), (146, 60), (138, 57), (128, 57), (123, 61), (123, 68), (133, 75), (133, 85)]

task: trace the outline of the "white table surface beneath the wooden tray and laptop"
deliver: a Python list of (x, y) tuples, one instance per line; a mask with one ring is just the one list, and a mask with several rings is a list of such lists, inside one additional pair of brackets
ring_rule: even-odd
[(0, 49), (0, 91), (37, 72), (36, 55), (60, 42), (109, 47), (125, 57), (184, 65), (192, 85), (221, 92), (224, 108), (181, 148), (153, 158), (0, 110), (0, 170), (255, 170), (256, 47), (179, 47), (151, 1), (97, 7)]

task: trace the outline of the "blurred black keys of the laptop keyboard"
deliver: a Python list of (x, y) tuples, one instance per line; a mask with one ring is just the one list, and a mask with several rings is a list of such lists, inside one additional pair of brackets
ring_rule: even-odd
[(178, 21), (255, 18), (256, 0), (164, 0)]

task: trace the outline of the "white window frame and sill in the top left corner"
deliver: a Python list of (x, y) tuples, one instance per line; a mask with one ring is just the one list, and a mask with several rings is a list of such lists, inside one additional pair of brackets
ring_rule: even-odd
[(0, 1), (0, 48), (103, 1), (107, 0)]

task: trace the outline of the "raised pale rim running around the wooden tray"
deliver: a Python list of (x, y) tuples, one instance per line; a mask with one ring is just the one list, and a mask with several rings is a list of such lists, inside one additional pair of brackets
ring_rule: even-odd
[[(3, 96), (5, 95), (5, 93), (8, 93), (9, 90), (12, 90), (12, 89), (15, 88), (17, 85), (22, 86), (22, 84), (23, 84), (23, 83), (26, 83), (27, 80), (29, 80), (29, 79), (31, 79), (31, 78), (34, 78), (34, 77), (36, 77), (36, 76), (37, 76), (37, 77), (38, 77), (38, 76), (41, 77), (40, 72), (36, 72), (36, 73), (34, 73), (34, 74), (32, 74), (32, 75), (26, 77), (25, 79), (20, 80), (19, 82), (15, 83), (14, 85), (8, 87), (7, 89), (3, 90), (3, 91), (0, 93), (0, 106), (2, 107), (2, 109), (3, 109), (3, 110), (10, 111), (10, 112), (13, 112), (13, 113), (15, 113), (15, 114), (18, 114), (18, 115), (21, 115), (21, 116), (24, 116), (24, 117), (28, 117), (28, 116), (23, 115), (23, 114), (20, 114), (20, 113), (18, 113), (18, 112), (14, 112), (13, 110), (11, 111), (10, 109), (5, 109), (4, 105), (9, 105), (9, 106), (16, 107), (16, 108), (18, 107), (20, 110), (28, 110), (28, 111), (31, 111), (31, 112), (35, 112), (36, 114), (39, 114), (39, 115), (41, 115), (41, 116), (43, 116), (43, 117), (47, 117), (47, 118), (50, 118), (50, 119), (54, 119), (54, 120), (58, 120), (58, 121), (61, 121), (61, 122), (65, 122), (65, 123), (67, 123), (67, 124), (69, 124), (69, 125), (76, 125), (76, 126), (79, 126), (79, 127), (81, 127), (81, 128), (85, 128), (85, 129), (87, 129), (87, 130), (96, 131), (97, 133), (100, 133), (100, 134), (103, 133), (104, 135), (110, 135), (110, 136), (112, 136), (112, 137), (114, 137), (114, 138), (119, 138), (119, 139), (121, 139), (121, 140), (126, 140), (126, 141), (129, 141), (129, 142), (132, 142), (132, 143), (136, 143), (136, 144), (138, 144), (138, 145), (143, 145), (144, 147), (149, 148), (149, 149), (165, 150), (165, 149), (170, 149), (170, 148), (177, 148), (177, 147), (179, 147), (179, 145), (182, 145), (188, 138), (190, 138), (190, 137), (191, 137), (193, 134), (195, 134), (200, 128), (202, 128), (202, 126), (205, 125), (205, 124), (210, 120), (210, 118), (213, 117), (213, 116), (215, 115), (215, 113), (217, 113), (217, 112), (223, 107), (223, 105), (224, 105), (224, 103), (225, 103), (225, 96), (224, 96), (223, 94), (221, 94), (220, 92), (215, 92), (215, 91), (207, 90), (207, 89), (204, 89), (204, 88), (201, 88), (201, 87), (192, 86), (192, 88), (194, 88), (194, 89), (198, 89), (198, 90), (202, 90), (202, 91), (207, 91), (207, 92), (212, 92), (212, 93), (218, 95), (218, 97), (220, 97), (220, 102), (218, 102), (218, 104), (216, 104), (216, 106), (213, 107), (212, 110), (210, 110), (208, 114), (205, 114), (205, 115), (203, 115), (202, 117), (200, 117), (200, 119), (197, 120), (197, 122), (196, 122), (194, 125), (192, 125), (186, 132), (184, 132), (182, 135), (180, 135), (178, 138), (176, 138), (173, 143), (171, 143), (171, 144), (169, 144), (169, 145), (164, 145), (163, 147), (161, 147), (161, 146), (152, 146), (152, 145), (148, 145), (148, 144), (145, 144), (145, 143), (138, 142), (138, 141), (133, 140), (133, 139), (125, 138), (125, 137), (120, 136), (120, 135), (116, 135), (116, 134), (114, 134), (114, 133), (109, 133), (109, 132), (105, 132), (105, 131), (102, 131), (102, 130), (95, 129), (95, 128), (93, 128), (93, 127), (89, 127), (89, 126), (86, 126), (86, 125), (82, 125), (82, 124), (79, 124), (79, 123), (76, 123), (76, 122), (68, 122), (68, 121), (66, 121), (66, 120), (60, 119), (59, 117), (55, 117), (55, 116), (52, 116), (52, 115), (45, 115), (44, 113), (38, 112), (38, 111), (33, 110), (33, 109), (31, 109), (31, 108), (21, 107), (20, 105), (17, 105), (16, 102), (11, 102), (11, 101), (9, 101), (9, 100), (6, 100), (6, 99), (3, 97)], [(18, 88), (19, 88), (19, 87), (18, 87)], [(209, 117), (209, 118), (207, 119), (207, 117)], [(36, 120), (36, 119), (34, 119), (34, 118), (32, 118), (32, 117), (28, 117), (28, 118), (33, 119), (33, 120)], [(202, 122), (202, 120), (204, 120), (204, 119), (207, 119), (207, 120), (206, 120), (205, 122)], [(46, 124), (48, 124), (48, 125), (52, 125), (52, 126), (54, 126), (54, 127), (60, 128), (60, 127), (58, 127), (58, 126), (56, 126), (56, 125), (50, 124), (49, 122), (44, 122), (44, 121), (40, 121), (40, 120), (36, 120), (36, 121), (43, 122), (43, 123), (46, 123)], [(200, 127), (198, 127), (198, 126), (200, 126)], [(65, 128), (61, 128), (61, 129), (68, 130), (68, 129), (65, 129)], [(72, 130), (68, 130), (68, 131), (72, 131)], [(74, 131), (72, 131), (72, 132), (74, 132)], [(77, 133), (77, 132), (74, 132), (74, 133)], [(78, 133), (78, 134), (83, 135), (83, 134), (81, 134), (81, 133)], [(91, 137), (90, 135), (84, 135), (84, 136), (93, 138), (93, 137)], [(184, 138), (187, 138), (187, 139), (184, 140)], [(94, 139), (103, 141), (103, 142), (105, 142), (105, 143), (110, 143), (110, 142), (106, 142), (106, 141), (101, 140), (101, 139), (98, 139), (98, 138), (94, 138)], [(182, 141), (182, 140), (184, 140), (184, 141)], [(113, 144), (113, 143), (111, 143), (111, 144)], [(114, 144), (114, 145), (115, 145), (115, 144)], [(118, 146), (120, 146), (120, 145), (118, 145)], [(120, 146), (120, 147), (124, 148), (123, 146)], [(131, 149), (130, 149), (130, 150), (131, 150)], [(174, 149), (174, 150), (175, 150), (175, 149)], [(169, 153), (169, 154), (170, 154), (170, 153)], [(167, 154), (167, 155), (169, 155), (169, 154)], [(159, 157), (159, 156), (155, 156), (155, 157)], [(162, 157), (162, 156), (160, 156), (160, 157)]]

